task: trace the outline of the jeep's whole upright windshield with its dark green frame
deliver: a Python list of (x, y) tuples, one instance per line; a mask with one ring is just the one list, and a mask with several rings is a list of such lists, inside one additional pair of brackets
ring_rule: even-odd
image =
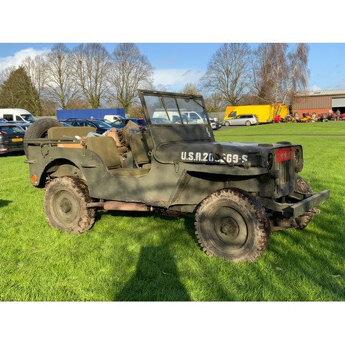
[(181, 141), (215, 141), (201, 95), (138, 92), (155, 146)]

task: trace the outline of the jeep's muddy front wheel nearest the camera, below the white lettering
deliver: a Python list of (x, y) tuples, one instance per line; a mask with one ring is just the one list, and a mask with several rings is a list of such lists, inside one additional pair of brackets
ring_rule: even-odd
[(254, 262), (268, 246), (270, 228), (259, 201), (237, 188), (224, 188), (206, 197), (195, 214), (201, 248), (232, 262)]

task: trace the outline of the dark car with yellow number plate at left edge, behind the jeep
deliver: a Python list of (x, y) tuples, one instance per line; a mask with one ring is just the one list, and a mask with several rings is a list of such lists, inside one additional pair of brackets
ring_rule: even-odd
[(0, 155), (14, 151), (24, 151), (25, 131), (19, 126), (0, 122)]

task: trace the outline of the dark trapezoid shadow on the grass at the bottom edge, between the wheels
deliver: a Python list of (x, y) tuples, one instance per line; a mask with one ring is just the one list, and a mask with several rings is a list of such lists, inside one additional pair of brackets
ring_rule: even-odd
[(141, 248), (137, 270), (115, 301), (172, 302), (190, 301), (179, 281), (174, 259), (168, 246)]

